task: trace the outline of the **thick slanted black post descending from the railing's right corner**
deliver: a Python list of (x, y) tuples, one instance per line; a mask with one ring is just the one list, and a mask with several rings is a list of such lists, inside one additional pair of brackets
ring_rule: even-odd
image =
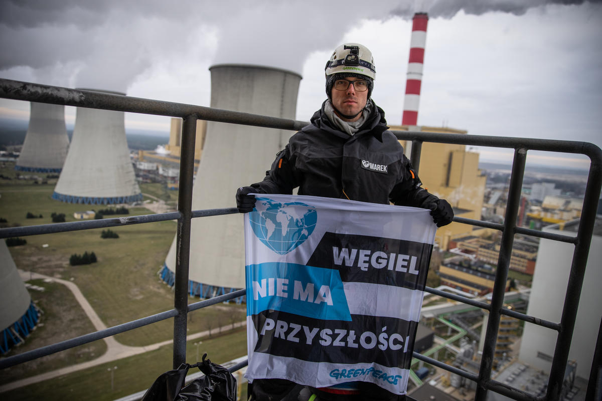
[[(601, 181), (602, 167), (599, 163), (592, 162), (589, 168), (588, 185), (583, 197), (583, 209), (577, 230), (573, 263), (571, 263), (571, 272), (566, 286), (562, 317), (560, 317), (560, 332), (556, 338), (556, 349), (550, 368), (547, 397), (553, 401), (560, 399), (560, 393), (562, 392), (566, 361), (568, 361), (571, 338), (573, 338), (575, 320), (577, 320), (577, 308), (579, 307), (583, 278), (585, 278), (585, 267), (588, 263), (589, 245), (594, 233)], [(600, 266), (592, 266), (592, 268), (600, 268)]]

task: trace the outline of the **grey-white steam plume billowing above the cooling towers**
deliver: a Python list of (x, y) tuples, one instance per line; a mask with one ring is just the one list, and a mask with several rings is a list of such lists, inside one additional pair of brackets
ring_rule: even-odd
[(410, 19), (417, 11), (432, 18), (451, 18), (460, 10), (520, 15), (547, 4), (582, 2), (4, 0), (0, 74), (126, 93), (135, 78), (158, 65), (206, 70), (211, 64), (244, 63), (301, 73), (312, 52), (334, 49), (362, 20)]

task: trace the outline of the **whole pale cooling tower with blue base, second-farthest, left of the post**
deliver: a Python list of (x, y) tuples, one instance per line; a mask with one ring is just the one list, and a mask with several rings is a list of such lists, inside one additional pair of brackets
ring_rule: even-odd
[(73, 138), (53, 199), (85, 204), (142, 200), (129, 159), (123, 117), (122, 111), (77, 108)]

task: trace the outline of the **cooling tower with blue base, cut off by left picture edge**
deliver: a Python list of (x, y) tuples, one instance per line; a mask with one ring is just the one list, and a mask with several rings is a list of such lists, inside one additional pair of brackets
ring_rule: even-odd
[(0, 352), (5, 354), (21, 343), (36, 326), (38, 317), (6, 242), (0, 240)]

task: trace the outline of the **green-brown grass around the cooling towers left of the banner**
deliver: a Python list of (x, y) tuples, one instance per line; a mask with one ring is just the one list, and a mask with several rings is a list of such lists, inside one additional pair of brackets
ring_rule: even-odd
[[(10, 164), (0, 167), (0, 174), (4, 177), (16, 177), (16, 172), (12, 170)], [(35, 184), (35, 180), (34, 178), (28, 180), (0, 180), (0, 217), (7, 219), (7, 222), (4, 223), (5, 226), (49, 224), (52, 222), (52, 212), (64, 213), (66, 221), (76, 221), (73, 217), (74, 212), (106, 208), (98, 205), (67, 204), (53, 200), (51, 198), (54, 191), (52, 180), (47, 184)], [(154, 191), (161, 190), (152, 186), (146, 188), (143, 186), (142, 188), (143, 191), (149, 190), (149, 192), (151, 192), (151, 189), (154, 189)], [(175, 192), (177, 199), (177, 191), (170, 192)], [(28, 219), (26, 218), (27, 212), (35, 215), (41, 214), (43, 217)], [(129, 212), (129, 215), (153, 213), (143, 207), (132, 207)], [(116, 216), (110, 215), (107, 217)], [(50, 277), (63, 278), (75, 283), (107, 326), (118, 325), (172, 309), (173, 291), (160, 280), (157, 272), (163, 266), (167, 252), (175, 237), (176, 222), (163, 221), (126, 225), (112, 227), (111, 230), (119, 234), (118, 239), (102, 239), (102, 228), (99, 228), (72, 231), (70, 233), (25, 236), (23, 237), (27, 240), (25, 245), (9, 249), (19, 269), (45, 274)], [(93, 251), (98, 258), (98, 263), (70, 266), (69, 257), (74, 253), (82, 254), (84, 251), (88, 251), (88, 253)], [(43, 318), (44, 325), (28, 338), (25, 346), (17, 347), (13, 351), (14, 353), (23, 352), (29, 349), (28, 347), (37, 348), (46, 343), (64, 340), (65, 338), (59, 338), (57, 333), (67, 327), (73, 333), (69, 337), (94, 331), (92, 324), (85, 317), (79, 305), (73, 304), (75, 299), (66, 288), (60, 286), (60, 284), (53, 284), (52, 291), (49, 290), (48, 293), (44, 292), (42, 294), (43, 298), (48, 297), (48, 299), (51, 299), (52, 294), (58, 294), (58, 298), (54, 301), (44, 301), (54, 304), (56, 310), (48, 313), (48, 316)], [(37, 299), (36, 297), (39, 294), (32, 293), (32, 296)], [(196, 301), (199, 301), (199, 299), (189, 298), (189, 303)], [(218, 354), (216, 350), (219, 350), (220, 347), (225, 348), (223, 358), (220, 356), (221, 354), (218, 354), (219, 360), (212, 357), (216, 362), (225, 362), (240, 357), (246, 354), (244, 331), (234, 335), (237, 340), (231, 340), (229, 339), (231, 337), (220, 337), (217, 328), (244, 320), (245, 312), (243, 305), (234, 304), (219, 304), (194, 311), (188, 315), (188, 332), (193, 334), (207, 329), (212, 331), (213, 339), (208, 341), (223, 344), (207, 347), (206, 349), (211, 350), (209, 357)], [(57, 315), (58, 317), (56, 317)], [(48, 335), (48, 338), (42, 341), (40, 337), (42, 337), (45, 330), (48, 333), (54, 332), (55, 335)], [(120, 343), (129, 346), (144, 346), (170, 340), (173, 338), (173, 320), (168, 319), (144, 326), (119, 334), (116, 338)], [(208, 341), (203, 340), (203, 344), (213, 344), (213, 342)], [(232, 341), (240, 342), (241, 346), (230, 344)], [(87, 347), (85, 352), (81, 350), (84, 347)], [(39, 361), (22, 364), (19, 368), (10, 369), (7, 379), (4, 379), (5, 372), (2, 372), (2, 381), (10, 382), (17, 377), (22, 378), (46, 370), (57, 369), (66, 364), (79, 363), (84, 361), (85, 358), (89, 359), (102, 354), (104, 348), (101, 349), (101, 347), (105, 347), (104, 341), (95, 341), (95, 343), (73, 349), (72, 354), (67, 354), (70, 351), (60, 352)], [(190, 346), (190, 349), (196, 353), (196, 347)], [(42, 363), (46, 358), (49, 358), (48, 362)], [(90, 394), (94, 395), (94, 399), (99, 399), (99, 394), (107, 394), (106, 399), (113, 399), (139, 391), (150, 385), (159, 373), (169, 369), (172, 364), (170, 347), (163, 347), (149, 353), (149, 355), (144, 354), (132, 358), (137, 358), (137, 362), (132, 362), (128, 370), (120, 367), (116, 371), (116, 393), (107, 392), (106, 388), (104, 390), (93, 388)], [(98, 381), (95, 376), (100, 377), (103, 374), (102, 372), (108, 375), (106, 373), (107, 367), (102, 367), (102, 369), (99, 367), (99, 370), (95, 369), (90, 370), (93, 373), (76, 372), (55, 379), (54, 384), (35, 384), (22, 388), (15, 393), (7, 394), (12, 394), (11, 396), (19, 394), (19, 399), (39, 399), (40, 394), (45, 394), (40, 393), (40, 391), (44, 391), (44, 389), (50, 391), (49, 389), (52, 389), (52, 397), (57, 394), (56, 399), (64, 399), (65, 397), (69, 399), (75, 397), (89, 399), (91, 396), (86, 397), (85, 393), (82, 393), (82, 388), (94, 387), (95, 382)], [(119, 382), (120, 376), (124, 381)], [(140, 376), (140, 379), (138, 376)], [(151, 378), (151, 376), (154, 377)], [(132, 384), (128, 385), (128, 390), (122, 390), (126, 388), (125, 383), (129, 381)], [(61, 383), (60, 386), (57, 386), (57, 382)], [(138, 387), (135, 387), (135, 385), (138, 385)], [(63, 390), (59, 391), (58, 387), (66, 388), (65, 391), (69, 391), (69, 393), (64, 393)], [(117, 393), (117, 391), (121, 392)], [(25, 396), (25, 394), (27, 395)], [(75, 394), (78, 395), (75, 396)], [(2, 397), (4, 397), (4, 394), (2, 394)], [(43, 399), (54, 399), (52, 397), (48, 397), (48, 393), (46, 393)], [(12, 398), (9, 397), (8, 399)]]

